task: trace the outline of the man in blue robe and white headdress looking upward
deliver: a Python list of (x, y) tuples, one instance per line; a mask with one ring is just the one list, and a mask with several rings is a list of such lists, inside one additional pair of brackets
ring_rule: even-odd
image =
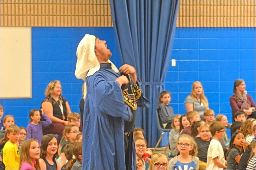
[[(126, 169), (124, 122), (132, 120), (132, 111), (124, 103), (121, 86), (129, 80), (109, 60), (106, 41), (86, 34), (76, 55), (75, 75), (86, 82), (82, 168)], [(134, 67), (125, 64), (119, 70), (137, 81)]]

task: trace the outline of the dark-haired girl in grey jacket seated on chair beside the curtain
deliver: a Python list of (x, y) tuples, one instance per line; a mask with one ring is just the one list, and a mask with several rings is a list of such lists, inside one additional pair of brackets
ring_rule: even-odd
[(171, 99), (172, 97), (169, 91), (161, 91), (159, 93), (158, 107), (156, 110), (166, 129), (170, 129), (172, 127), (172, 119), (174, 116), (173, 108), (169, 105)]

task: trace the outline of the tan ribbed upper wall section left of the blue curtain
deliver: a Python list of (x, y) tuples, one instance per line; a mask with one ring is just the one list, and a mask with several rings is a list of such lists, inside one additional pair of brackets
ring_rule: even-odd
[(112, 27), (109, 1), (1, 0), (1, 26)]

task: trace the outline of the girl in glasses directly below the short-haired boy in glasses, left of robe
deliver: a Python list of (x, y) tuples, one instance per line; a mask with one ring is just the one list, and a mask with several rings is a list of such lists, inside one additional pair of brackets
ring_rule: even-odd
[(60, 167), (62, 167), (67, 161), (67, 158), (64, 153), (65, 146), (69, 143), (76, 142), (76, 136), (79, 133), (81, 132), (79, 131), (79, 128), (75, 124), (68, 124), (67, 126), (65, 126), (63, 130), (63, 136), (65, 136), (65, 142), (60, 150)]

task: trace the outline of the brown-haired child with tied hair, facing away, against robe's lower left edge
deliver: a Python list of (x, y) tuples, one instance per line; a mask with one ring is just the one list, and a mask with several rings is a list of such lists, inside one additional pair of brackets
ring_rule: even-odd
[(67, 169), (82, 169), (82, 142), (76, 142), (73, 148), (73, 157), (68, 161)]

